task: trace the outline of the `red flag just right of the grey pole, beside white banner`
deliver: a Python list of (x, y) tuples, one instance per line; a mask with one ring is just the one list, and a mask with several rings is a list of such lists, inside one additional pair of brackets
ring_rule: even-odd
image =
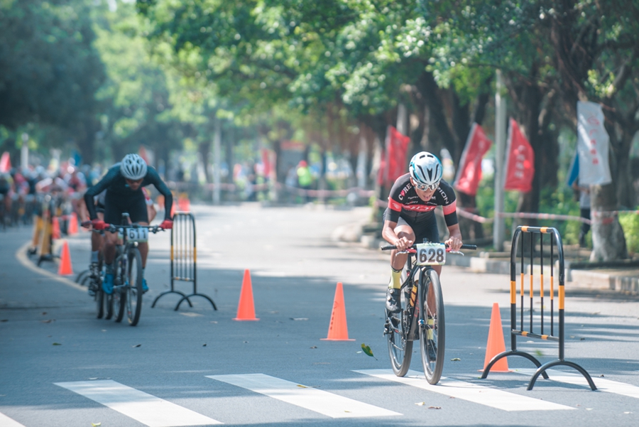
[(532, 177), (535, 175), (535, 152), (532, 151), (528, 139), (519, 130), (515, 119), (510, 119), (506, 156), (504, 190), (528, 193), (532, 190)]

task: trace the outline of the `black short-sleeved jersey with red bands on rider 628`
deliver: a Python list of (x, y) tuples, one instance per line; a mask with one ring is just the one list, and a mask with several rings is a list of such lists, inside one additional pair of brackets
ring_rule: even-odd
[(388, 195), (388, 212), (385, 220), (398, 222), (400, 217), (408, 222), (433, 215), (435, 207), (442, 206), (444, 220), (448, 227), (457, 224), (457, 201), (451, 185), (445, 180), (439, 181), (439, 187), (432, 194), (432, 198), (425, 202), (417, 195), (415, 187), (410, 183), (410, 173), (401, 175), (391, 188)]

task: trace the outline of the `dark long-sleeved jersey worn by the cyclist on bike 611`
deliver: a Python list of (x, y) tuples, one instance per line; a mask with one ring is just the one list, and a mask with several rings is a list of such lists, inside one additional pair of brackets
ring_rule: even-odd
[[(139, 200), (142, 200), (142, 205), (145, 206), (146, 214), (146, 202), (144, 202), (144, 194), (142, 187), (153, 184), (158, 189), (161, 195), (164, 196), (164, 218), (165, 220), (171, 219), (171, 206), (173, 205), (173, 195), (171, 191), (164, 183), (164, 181), (155, 171), (155, 168), (148, 166), (146, 175), (142, 180), (142, 184), (138, 190), (131, 190), (129, 184), (126, 183), (126, 179), (120, 173), (120, 163), (116, 163), (109, 168), (107, 175), (99, 181), (96, 185), (92, 186), (84, 193), (84, 202), (87, 204), (87, 210), (89, 210), (89, 217), (92, 220), (97, 218), (96, 207), (94, 205), (94, 196), (102, 193), (103, 190), (107, 190), (107, 208), (110, 200), (118, 200), (118, 205), (124, 207), (125, 205), (131, 205), (132, 207), (138, 204)], [(110, 200), (109, 200), (110, 199)], [(131, 212), (130, 212), (131, 213)], [(107, 218), (105, 217), (105, 222)], [(133, 215), (131, 215), (133, 220)]]

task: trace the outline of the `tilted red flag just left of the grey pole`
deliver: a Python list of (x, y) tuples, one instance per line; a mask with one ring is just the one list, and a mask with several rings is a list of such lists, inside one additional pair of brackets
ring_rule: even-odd
[(481, 158), (491, 148), (493, 142), (486, 138), (484, 129), (474, 123), (471, 127), (464, 152), (461, 153), (454, 188), (468, 195), (476, 195), (481, 180)]

